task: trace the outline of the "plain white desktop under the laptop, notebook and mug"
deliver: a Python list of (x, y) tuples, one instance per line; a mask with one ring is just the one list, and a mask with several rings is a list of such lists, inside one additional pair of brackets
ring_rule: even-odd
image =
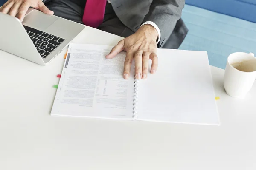
[[(87, 27), (73, 42), (121, 39)], [(0, 170), (256, 169), (256, 83), (233, 99), (211, 67), (220, 126), (52, 117), (65, 52), (44, 67), (0, 51)]]

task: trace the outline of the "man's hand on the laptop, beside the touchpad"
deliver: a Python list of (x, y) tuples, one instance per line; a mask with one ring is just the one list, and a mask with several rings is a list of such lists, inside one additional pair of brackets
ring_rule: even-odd
[(50, 11), (42, 2), (42, 0), (8, 0), (0, 8), (0, 12), (9, 14), (13, 17), (17, 17), (22, 22), (29, 7), (35, 8), (44, 12), (45, 14), (53, 15), (53, 11)]

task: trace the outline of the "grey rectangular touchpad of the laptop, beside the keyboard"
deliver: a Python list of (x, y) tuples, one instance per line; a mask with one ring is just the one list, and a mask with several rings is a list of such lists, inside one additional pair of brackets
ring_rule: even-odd
[(38, 28), (41, 31), (44, 31), (49, 26), (51, 26), (56, 20), (57, 17), (44, 14), (40, 11), (33, 10), (24, 17), (22, 23), (25, 23), (27, 26)]

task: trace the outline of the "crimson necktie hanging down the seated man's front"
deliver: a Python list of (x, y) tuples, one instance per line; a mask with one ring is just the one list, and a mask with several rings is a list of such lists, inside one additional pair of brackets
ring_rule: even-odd
[(83, 23), (98, 28), (103, 22), (107, 0), (87, 0), (84, 8)]

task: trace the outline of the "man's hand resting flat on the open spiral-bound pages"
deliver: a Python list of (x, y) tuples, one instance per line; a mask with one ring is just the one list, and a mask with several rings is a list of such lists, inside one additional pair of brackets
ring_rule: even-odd
[(136, 33), (118, 42), (106, 58), (111, 59), (122, 50), (127, 51), (123, 77), (128, 79), (130, 76), (131, 63), (134, 59), (136, 79), (146, 79), (149, 59), (152, 60), (151, 74), (157, 71), (157, 37), (157, 30), (153, 26), (145, 24)]

